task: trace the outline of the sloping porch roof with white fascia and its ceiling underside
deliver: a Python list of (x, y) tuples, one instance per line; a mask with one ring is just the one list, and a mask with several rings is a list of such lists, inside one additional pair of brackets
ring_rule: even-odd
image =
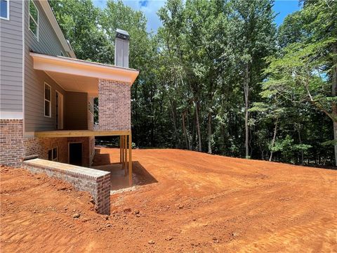
[(42, 70), (65, 91), (86, 92), (98, 96), (98, 79), (113, 80), (132, 85), (139, 71), (101, 63), (92, 63), (62, 56), (30, 53), (34, 70)]

